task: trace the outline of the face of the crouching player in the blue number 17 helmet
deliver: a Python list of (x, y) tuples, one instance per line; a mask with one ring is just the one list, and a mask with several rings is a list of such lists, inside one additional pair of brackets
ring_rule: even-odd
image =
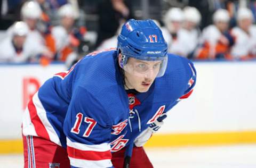
[(141, 93), (148, 91), (159, 72), (162, 61), (143, 61), (130, 57), (127, 65), (132, 72), (124, 71), (125, 89), (135, 89)]

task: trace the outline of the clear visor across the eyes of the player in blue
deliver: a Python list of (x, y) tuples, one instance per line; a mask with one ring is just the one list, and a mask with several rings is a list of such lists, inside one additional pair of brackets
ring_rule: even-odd
[(138, 77), (162, 77), (167, 66), (167, 56), (137, 58), (129, 57), (123, 66), (124, 71), (137, 75)]

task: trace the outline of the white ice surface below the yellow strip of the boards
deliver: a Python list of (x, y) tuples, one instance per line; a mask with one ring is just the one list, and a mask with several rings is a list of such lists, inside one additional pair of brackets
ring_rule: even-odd
[[(255, 168), (256, 145), (147, 148), (154, 167)], [(22, 155), (0, 155), (1, 168), (23, 167)], [(60, 167), (61, 168), (61, 167)]]

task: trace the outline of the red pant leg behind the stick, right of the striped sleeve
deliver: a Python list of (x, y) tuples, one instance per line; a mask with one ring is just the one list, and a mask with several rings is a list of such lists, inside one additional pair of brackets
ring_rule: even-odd
[[(115, 168), (123, 168), (125, 149), (112, 153), (112, 164)], [(133, 147), (130, 168), (151, 168), (153, 165), (143, 147)]]

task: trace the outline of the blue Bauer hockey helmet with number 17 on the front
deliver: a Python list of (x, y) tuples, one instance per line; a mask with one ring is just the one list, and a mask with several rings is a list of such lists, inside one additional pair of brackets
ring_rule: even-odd
[(120, 66), (125, 71), (129, 57), (145, 61), (162, 61), (157, 77), (164, 75), (167, 66), (167, 44), (162, 31), (153, 20), (127, 21), (118, 36), (117, 52), (122, 54)]

